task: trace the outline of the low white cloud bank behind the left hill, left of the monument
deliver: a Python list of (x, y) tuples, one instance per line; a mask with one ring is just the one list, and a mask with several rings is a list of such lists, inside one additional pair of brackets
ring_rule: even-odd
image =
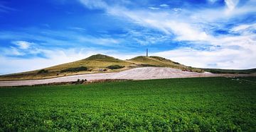
[(54, 49), (54, 50), (38, 49), (38, 50), (40, 50), (46, 56), (46, 58), (41, 58), (41, 57), (16, 58), (16, 57), (0, 55), (0, 69), (1, 69), (0, 74), (33, 71), (36, 69), (55, 66), (58, 64), (78, 61), (80, 59), (85, 59), (88, 56), (92, 56), (94, 54), (107, 54), (109, 56), (114, 56), (118, 59), (130, 59), (134, 56), (142, 55), (136, 52), (132, 54), (129, 54), (129, 53), (125, 54), (125, 53), (120, 53), (113, 50), (102, 50), (102, 49), (94, 49), (94, 48)]

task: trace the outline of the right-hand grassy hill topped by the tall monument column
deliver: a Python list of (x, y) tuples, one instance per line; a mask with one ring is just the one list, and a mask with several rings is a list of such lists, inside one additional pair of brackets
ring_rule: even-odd
[(132, 59), (127, 60), (129, 62), (135, 63), (139, 66), (159, 66), (159, 67), (170, 67), (178, 68), (184, 71), (196, 71), (202, 72), (200, 68), (193, 68), (191, 66), (185, 66), (179, 64), (178, 62), (165, 59), (160, 56), (137, 56)]

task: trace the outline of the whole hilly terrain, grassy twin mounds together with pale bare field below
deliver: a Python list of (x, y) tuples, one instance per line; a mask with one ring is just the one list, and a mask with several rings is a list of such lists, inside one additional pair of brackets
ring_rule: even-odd
[[(144, 71), (137, 71), (137, 68), (148, 68)], [(133, 72), (129, 69), (135, 68)], [(151, 68), (154, 68), (152, 71)], [(165, 73), (162, 68), (169, 68)], [(128, 70), (128, 71), (127, 71)], [(145, 72), (146, 71), (146, 72)], [(150, 72), (149, 72), (150, 71)], [(210, 73), (216, 73), (211, 75), (204, 74), (206, 71)], [(101, 73), (92, 75), (95, 73)], [(125, 75), (123, 75), (125, 73)], [(218, 73), (218, 74), (217, 74)], [(223, 70), (223, 69), (210, 69), (210, 68), (193, 68), (191, 66), (185, 66), (178, 62), (165, 59), (160, 56), (137, 56), (132, 59), (121, 60), (115, 59), (112, 56), (106, 56), (102, 54), (92, 55), (86, 59), (79, 61), (73, 61), (67, 64), (60, 64), (57, 66), (51, 66), (36, 71), (28, 71), (23, 73), (14, 73), (9, 75), (0, 76), (0, 83), (6, 83), (3, 81), (9, 80), (31, 80), (37, 82), (41, 79), (50, 79), (60, 82), (63, 78), (80, 78), (87, 77), (85, 79), (92, 80), (91, 77), (98, 79), (115, 78), (120, 79), (154, 79), (154, 78), (188, 78), (188, 77), (207, 77), (207, 76), (227, 76), (228, 74), (248, 74), (249, 76), (255, 76), (255, 69), (248, 70)], [(122, 76), (121, 76), (122, 75)], [(72, 77), (69, 77), (72, 76)], [(118, 76), (114, 77), (114, 76)], [(146, 77), (145, 77), (146, 76)], [(232, 75), (230, 75), (232, 76)], [(240, 75), (234, 75), (240, 76)], [(48, 80), (44, 80), (48, 82)], [(66, 81), (66, 80), (64, 80)], [(51, 81), (50, 81), (51, 82)], [(8, 83), (8, 82), (7, 82)], [(9, 82), (11, 83), (11, 82)]]

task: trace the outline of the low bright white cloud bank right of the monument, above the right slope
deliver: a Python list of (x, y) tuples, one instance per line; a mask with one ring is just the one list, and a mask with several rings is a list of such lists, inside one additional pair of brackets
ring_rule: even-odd
[(246, 49), (219, 49), (201, 51), (196, 49), (174, 49), (152, 55), (164, 56), (187, 66), (198, 68), (255, 68), (256, 53)]

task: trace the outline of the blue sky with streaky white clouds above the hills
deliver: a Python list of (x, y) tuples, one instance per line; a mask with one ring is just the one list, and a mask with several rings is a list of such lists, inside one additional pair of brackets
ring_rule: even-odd
[(92, 54), (256, 68), (256, 0), (0, 0), (0, 74)]

